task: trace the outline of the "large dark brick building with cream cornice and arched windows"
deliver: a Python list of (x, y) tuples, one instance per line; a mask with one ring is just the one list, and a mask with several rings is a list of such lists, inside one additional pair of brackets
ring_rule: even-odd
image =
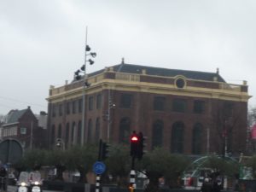
[[(227, 84), (216, 73), (125, 64), (49, 89), (49, 143), (128, 143), (131, 131), (148, 150), (240, 153), (246, 148), (247, 83)], [(84, 97), (83, 97), (84, 96)], [(83, 110), (83, 101), (85, 101)], [(84, 119), (83, 119), (84, 111)], [(84, 131), (82, 129), (84, 122)], [(83, 137), (84, 136), (84, 137)]]

